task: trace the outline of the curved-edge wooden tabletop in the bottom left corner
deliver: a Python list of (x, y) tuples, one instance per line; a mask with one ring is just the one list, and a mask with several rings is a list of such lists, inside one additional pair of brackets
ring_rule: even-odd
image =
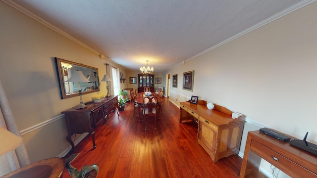
[(48, 158), (31, 163), (1, 178), (60, 178), (64, 167), (64, 159)]

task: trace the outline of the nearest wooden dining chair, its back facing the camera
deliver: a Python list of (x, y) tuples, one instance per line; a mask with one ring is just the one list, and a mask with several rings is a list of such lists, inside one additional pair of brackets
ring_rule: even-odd
[(143, 113), (143, 120), (144, 120), (144, 130), (146, 131), (146, 119), (149, 117), (155, 117), (154, 120), (154, 129), (157, 129), (157, 117), (159, 117), (159, 104), (158, 104), (158, 97), (144, 97), (143, 98), (143, 105), (141, 106), (141, 110)]

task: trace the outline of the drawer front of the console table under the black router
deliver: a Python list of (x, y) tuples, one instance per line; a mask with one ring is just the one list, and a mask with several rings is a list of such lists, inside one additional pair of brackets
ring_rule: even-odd
[(285, 158), (284, 156), (276, 153), (275, 151), (267, 148), (266, 146), (257, 141), (252, 140), (250, 148), (253, 152), (264, 158), (267, 162), (275, 165), (276, 168), (280, 169), (285, 173), (288, 172), (289, 176), (291, 177), (299, 178), (298, 175), (301, 175), (302, 178), (316, 177), (316, 174)]

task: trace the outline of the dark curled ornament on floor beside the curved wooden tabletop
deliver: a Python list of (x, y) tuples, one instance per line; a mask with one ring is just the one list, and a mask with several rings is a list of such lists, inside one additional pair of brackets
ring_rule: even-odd
[(99, 172), (97, 164), (90, 166), (84, 165), (83, 168), (78, 171), (70, 163), (66, 162), (66, 169), (72, 178), (97, 178)]

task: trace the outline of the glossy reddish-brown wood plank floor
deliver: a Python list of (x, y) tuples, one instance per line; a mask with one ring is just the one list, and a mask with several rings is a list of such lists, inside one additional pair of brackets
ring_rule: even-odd
[[(154, 119), (144, 123), (132, 117), (133, 104), (119, 116), (110, 114), (107, 124), (96, 129), (96, 149), (90, 135), (72, 152), (79, 153), (71, 165), (98, 163), (98, 178), (238, 178), (242, 158), (237, 155), (213, 163), (196, 142), (197, 124), (179, 123), (179, 108), (162, 100), (162, 113), (154, 129)], [(69, 155), (66, 155), (67, 158)], [(62, 178), (71, 178), (65, 169)]]

